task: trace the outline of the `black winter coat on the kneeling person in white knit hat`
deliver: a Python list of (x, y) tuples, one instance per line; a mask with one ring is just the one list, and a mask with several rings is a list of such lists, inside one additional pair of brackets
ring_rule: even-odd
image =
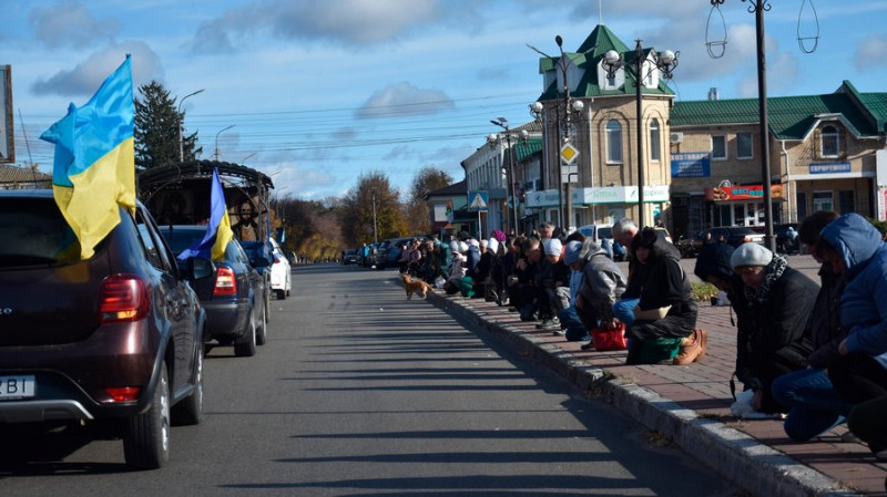
[(750, 300), (744, 288), (742, 280), (734, 280), (731, 293), (737, 327), (736, 376), (746, 390), (768, 392), (779, 374), (774, 373), (775, 364), (789, 371), (807, 366), (813, 350), (804, 332), (818, 287), (803, 272), (785, 267), (763, 302)]

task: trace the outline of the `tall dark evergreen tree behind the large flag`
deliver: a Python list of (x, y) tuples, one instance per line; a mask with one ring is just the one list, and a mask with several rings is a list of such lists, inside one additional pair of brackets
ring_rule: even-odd
[[(179, 162), (180, 115), (170, 91), (156, 81), (139, 87), (142, 99), (135, 99), (135, 168), (136, 172)], [(184, 133), (184, 130), (182, 131)], [(203, 148), (196, 147), (197, 133), (183, 134), (184, 159), (193, 161)]]

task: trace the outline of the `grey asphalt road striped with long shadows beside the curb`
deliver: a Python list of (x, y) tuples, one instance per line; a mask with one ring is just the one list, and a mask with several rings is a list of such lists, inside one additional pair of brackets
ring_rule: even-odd
[(206, 361), (205, 421), (161, 470), (82, 428), (0, 445), (3, 495), (734, 496), (656, 433), (406, 300), (396, 271), (314, 266), (268, 343)]

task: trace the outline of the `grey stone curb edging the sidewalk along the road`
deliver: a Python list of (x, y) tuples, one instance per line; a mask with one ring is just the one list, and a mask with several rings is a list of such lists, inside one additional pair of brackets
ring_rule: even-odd
[(458, 298), (431, 291), (427, 300), (460, 321), (511, 344), (519, 354), (539, 361), (579, 389), (600, 392), (599, 400), (613, 405), (649, 429), (663, 433), (687, 455), (744, 491), (766, 497), (860, 495), (738, 429), (702, 417), (695, 411), (650, 389), (624, 383), (557, 345), (537, 340), (529, 333), (509, 330), (496, 319), (479, 315), (461, 304)]

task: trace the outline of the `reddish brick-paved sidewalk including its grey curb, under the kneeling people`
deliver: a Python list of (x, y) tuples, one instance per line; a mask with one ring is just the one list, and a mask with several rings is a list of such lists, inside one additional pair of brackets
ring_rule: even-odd
[(582, 390), (610, 402), (674, 441), (738, 488), (755, 496), (849, 496), (885, 491), (887, 464), (866, 446), (842, 443), (846, 426), (805, 444), (785, 436), (782, 421), (732, 416), (730, 376), (736, 328), (728, 307), (701, 306), (708, 330), (705, 358), (687, 366), (624, 364), (625, 352), (580, 349), (517, 312), (483, 299), (429, 292), (429, 302), (511, 342), (519, 353), (549, 365)]

